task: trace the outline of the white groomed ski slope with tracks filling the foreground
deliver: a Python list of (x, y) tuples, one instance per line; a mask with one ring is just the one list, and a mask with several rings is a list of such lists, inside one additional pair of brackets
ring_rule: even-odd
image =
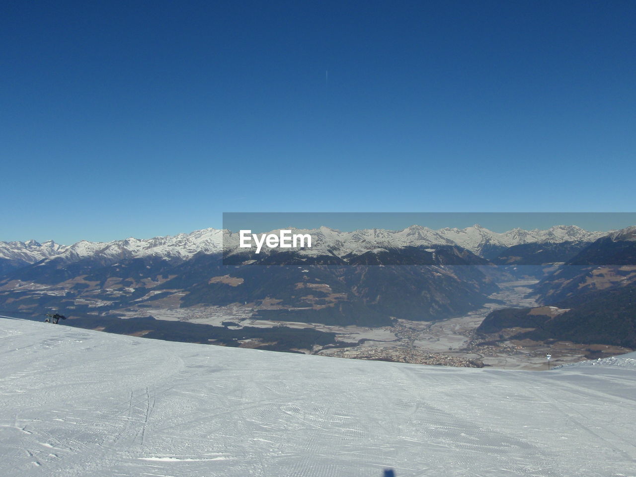
[(2, 476), (635, 476), (636, 370), (443, 368), (0, 319)]

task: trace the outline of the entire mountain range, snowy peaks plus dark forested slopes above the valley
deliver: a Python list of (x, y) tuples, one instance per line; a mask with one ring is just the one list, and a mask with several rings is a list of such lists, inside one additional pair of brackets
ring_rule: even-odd
[[(0, 242), (0, 310), (147, 317), (151, 310), (238, 304), (259, 321), (382, 327), (393, 319), (465, 315), (487, 303), (500, 282), (530, 276), (541, 279), (532, 293), (546, 305), (575, 300), (561, 307), (574, 309), (584, 294), (602, 291), (585, 305), (594, 329), (604, 310), (619, 318), (627, 312), (620, 304), (636, 283), (636, 227), (289, 229), (310, 233), (312, 248), (250, 255), (238, 247), (238, 233), (214, 228), (70, 246)], [(563, 263), (577, 266), (555, 266)], [(607, 343), (614, 335), (626, 336), (614, 333)]]

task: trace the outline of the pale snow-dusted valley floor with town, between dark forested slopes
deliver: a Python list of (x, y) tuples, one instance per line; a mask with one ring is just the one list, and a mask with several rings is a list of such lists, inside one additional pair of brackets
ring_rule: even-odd
[[(516, 342), (504, 341), (483, 344), (484, 340), (474, 331), (492, 310), (507, 307), (534, 307), (536, 301), (527, 298), (536, 280), (519, 280), (500, 283), (501, 291), (490, 296), (493, 300), (483, 308), (463, 317), (443, 321), (399, 320), (394, 326), (364, 328), (361, 326), (328, 326), (294, 322), (264, 321), (251, 319), (252, 308), (230, 305), (228, 307), (179, 308), (131, 308), (118, 315), (135, 317), (151, 314), (157, 319), (186, 321), (199, 324), (223, 326), (233, 322), (238, 327), (268, 328), (289, 326), (291, 328), (315, 328), (336, 333), (340, 342), (360, 342), (354, 347), (315, 347), (301, 349), (307, 354), (348, 357), (354, 359), (382, 359), (400, 363), (442, 364), (444, 366), (492, 366), (502, 369), (546, 370), (546, 353), (553, 355), (552, 364), (576, 363), (586, 359), (590, 352), (595, 357), (612, 356), (629, 352), (630, 349), (605, 345), (577, 345), (570, 342)], [(178, 304), (177, 304), (178, 305)], [(256, 347), (260, 343), (245, 340), (242, 347)]]

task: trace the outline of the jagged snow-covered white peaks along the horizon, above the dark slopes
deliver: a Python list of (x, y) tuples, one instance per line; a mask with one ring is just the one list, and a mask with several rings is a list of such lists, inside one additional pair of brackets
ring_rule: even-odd
[[(322, 226), (316, 229), (296, 229), (294, 233), (310, 233), (314, 243), (311, 249), (302, 251), (307, 256), (363, 254), (377, 249), (406, 246), (452, 245), (467, 249), (483, 258), (493, 258), (509, 247), (531, 243), (593, 242), (609, 232), (588, 232), (576, 225), (558, 225), (548, 230), (523, 230), (515, 228), (504, 233), (492, 232), (480, 225), (467, 228), (443, 228), (432, 230), (420, 225), (411, 225), (403, 230), (371, 228), (341, 232)], [(275, 232), (275, 231), (272, 231)], [(235, 251), (239, 245), (239, 234), (228, 230), (207, 228), (191, 233), (179, 233), (152, 239), (132, 237), (112, 242), (88, 242), (81, 240), (73, 245), (59, 245), (48, 240), (39, 244), (27, 242), (0, 242), (0, 273), (20, 266), (44, 260), (72, 263), (79, 259), (92, 258), (101, 265), (116, 263), (125, 258), (155, 256), (184, 261), (198, 252), (211, 254), (223, 249)]]

